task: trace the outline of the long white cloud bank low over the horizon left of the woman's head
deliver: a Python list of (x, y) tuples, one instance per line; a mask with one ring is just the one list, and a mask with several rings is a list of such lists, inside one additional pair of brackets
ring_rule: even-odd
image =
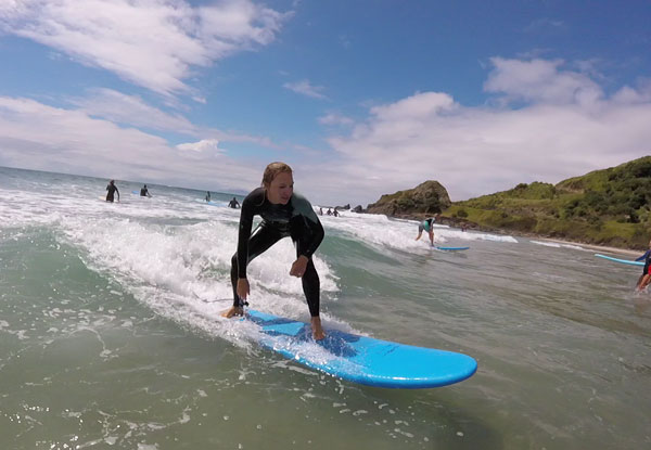
[[(189, 152), (190, 146), (193, 150)], [(205, 139), (182, 150), (133, 128), (29, 99), (0, 97), (0, 166), (248, 190), (264, 163), (240, 163)]]

